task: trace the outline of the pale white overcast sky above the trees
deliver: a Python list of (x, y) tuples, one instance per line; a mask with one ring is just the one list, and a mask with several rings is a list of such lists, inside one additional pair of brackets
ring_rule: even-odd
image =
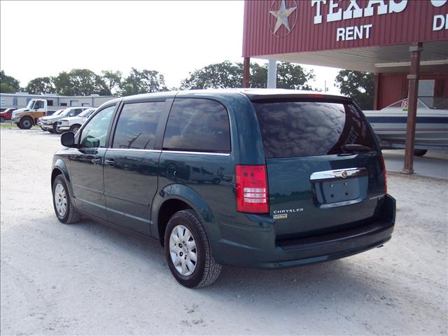
[[(0, 67), (22, 86), (74, 68), (126, 76), (134, 67), (179, 87), (195, 69), (242, 62), (243, 15), (243, 1), (0, 1)], [(326, 80), (339, 93), (339, 69), (304, 68), (316, 74), (313, 87)]]

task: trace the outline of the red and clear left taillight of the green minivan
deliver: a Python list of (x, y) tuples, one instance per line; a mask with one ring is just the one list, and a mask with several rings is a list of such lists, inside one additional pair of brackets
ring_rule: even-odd
[(237, 211), (268, 214), (267, 175), (265, 165), (236, 165)]

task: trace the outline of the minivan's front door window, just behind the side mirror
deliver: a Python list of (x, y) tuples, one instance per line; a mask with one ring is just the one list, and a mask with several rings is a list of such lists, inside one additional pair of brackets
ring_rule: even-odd
[(90, 120), (82, 130), (80, 135), (81, 148), (99, 148), (106, 146), (107, 131), (113, 110), (115, 106), (106, 107), (106, 109), (99, 111)]

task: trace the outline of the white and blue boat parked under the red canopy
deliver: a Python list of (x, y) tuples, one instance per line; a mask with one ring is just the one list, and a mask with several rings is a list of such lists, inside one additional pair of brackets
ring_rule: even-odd
[[(365, 111), (381, 148), (406, 147), (407, 107), (408, 100), (402, 99), (379, 111)], [(419, 97), (416, 117), (414, 155), (448, 151), (448, 99)]]

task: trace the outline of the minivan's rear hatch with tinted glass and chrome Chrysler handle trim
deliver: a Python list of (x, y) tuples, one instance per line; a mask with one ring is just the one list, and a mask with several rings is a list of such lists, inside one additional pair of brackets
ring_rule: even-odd
[(346, 99), (253, 101), (260, 125), (277, 239), (372, 223), (386, 182), (363, 113)]

